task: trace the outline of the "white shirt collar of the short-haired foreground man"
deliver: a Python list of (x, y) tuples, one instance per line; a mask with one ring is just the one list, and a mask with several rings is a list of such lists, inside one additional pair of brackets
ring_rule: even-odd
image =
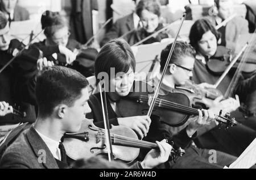
[(44, 143), (46, 143), (46, 145), (49, 148), (49, 150), (51, 151), (53, 157), (56, 158), (57, 160), (61, 161), (61, 153), (60, 153), (60, 149), (59, 149), (60, 142), (52, 140), (47, 136), (44, 136), (42, 133), (40, 133), (36, 129), (35, 129), (35, 131), (42, 138)]

